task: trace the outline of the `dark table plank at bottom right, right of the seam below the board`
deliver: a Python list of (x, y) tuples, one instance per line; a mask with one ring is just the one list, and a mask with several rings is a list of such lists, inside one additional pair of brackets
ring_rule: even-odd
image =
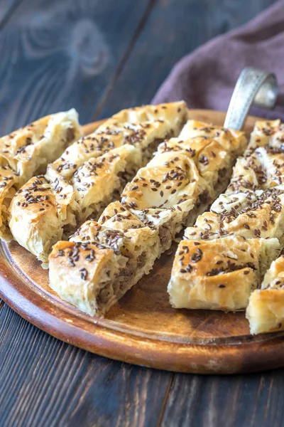
[(160, 426), (283, 426), (283, 376), (175, 374)]

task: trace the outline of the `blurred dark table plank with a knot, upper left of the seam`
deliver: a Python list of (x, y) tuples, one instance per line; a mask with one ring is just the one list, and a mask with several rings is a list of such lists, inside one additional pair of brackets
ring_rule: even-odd
[(0, 134), (70, 107), (92, 121), (151, 4), (21, 1), (0, 31)]

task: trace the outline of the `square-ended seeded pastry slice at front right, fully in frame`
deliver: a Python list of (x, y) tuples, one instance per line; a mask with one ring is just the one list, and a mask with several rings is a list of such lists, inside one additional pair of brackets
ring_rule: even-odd
[(170, 303), (175, 308), (244, 310), (279, 251), (276, 238), (182, 241), (168, 284)]

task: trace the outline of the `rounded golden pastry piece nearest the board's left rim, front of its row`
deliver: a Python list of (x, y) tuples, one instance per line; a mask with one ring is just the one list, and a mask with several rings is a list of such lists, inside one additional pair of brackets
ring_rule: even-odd
[(21, 246), (43, 261), (54, 243), (62, 238), (65, 227), (75, 227), (79, 210), (75, 191), (61, 176), (50, 182), (45, 176), (28, 181), (11, 202), (10, 228)]

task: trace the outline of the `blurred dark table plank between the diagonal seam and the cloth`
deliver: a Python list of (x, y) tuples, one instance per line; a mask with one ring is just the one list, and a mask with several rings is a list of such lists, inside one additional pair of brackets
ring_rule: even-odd
[[(99, 105), (95, 118), (147, 104), (182, 56), (249, 21), (272, 3), (273, 0), (158, 0), (114, 90), (105, 104)], [(196, 100), (195, 108), (204, 108), (199, 102)]]

